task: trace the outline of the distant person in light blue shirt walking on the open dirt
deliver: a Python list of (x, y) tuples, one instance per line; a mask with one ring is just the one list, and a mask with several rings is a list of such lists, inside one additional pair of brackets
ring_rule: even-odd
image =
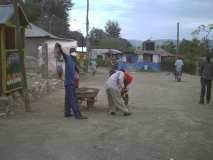
[(181, 81), (183, 66), (184, 66), (183, 60), (181, 59), (180, 56), (178, 56), (176, 61), (175, 61), (175, 79), (178, 82)]

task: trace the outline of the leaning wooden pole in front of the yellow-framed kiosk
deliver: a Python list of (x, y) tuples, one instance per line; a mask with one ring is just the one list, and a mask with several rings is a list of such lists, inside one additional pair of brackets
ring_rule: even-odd
[(25, 71), (25, 63), (24, 63), (24, 52), (23, 52), (23, 46), (24, 42), (21, 33), (21, 27), (20, 27), (20, 17), (18, 12), (18, 0), (12, 0), (13, 6), (14, 6), (14, 19), (15, 19), (15, 25), (16, 25), (16, 47), (18, 49), (18, 52), (20, 54), (20, 63), (21, 63), (21, 72), (22, 72), (22, 86), (23, 86), (23, 99), (25, 104), (25, 111), (30, 112), (31, 106), (30, 106), (30, 99), (28, 95), (28, 89), (27, 89), (27, 78), (26, 78), (26, 71)]

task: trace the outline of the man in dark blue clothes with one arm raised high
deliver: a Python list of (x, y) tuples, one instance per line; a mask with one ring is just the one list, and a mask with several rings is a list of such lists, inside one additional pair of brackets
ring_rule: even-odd
[(76, 73), (76, 59), (74, 56), (75, 48), (70, 49), (69, 54), (65, 54), (60, 44), (57, 43), (60, 54), (62, 54), (65, 61), (65, 105), (64, 105), (64, 116), (71, 117), (72, 113), (76, 119), (87, 119), (83, 116), (79, 109), (78, 100), (76, 97), (76, 85), (75, 85), (75, 73)]

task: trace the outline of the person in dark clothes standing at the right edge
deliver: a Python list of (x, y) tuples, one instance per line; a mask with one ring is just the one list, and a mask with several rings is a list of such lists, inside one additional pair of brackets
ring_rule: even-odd
[(200, 82), (201, 82), (201, 94), (200, 94), (200, 104), (209, 104), (211, 100), (211, 89), (212, 89), (212, 79), (213, 79), (213, 64), (210, 60), (210, 56), (206, 57), (205, 62), (200, 65)]

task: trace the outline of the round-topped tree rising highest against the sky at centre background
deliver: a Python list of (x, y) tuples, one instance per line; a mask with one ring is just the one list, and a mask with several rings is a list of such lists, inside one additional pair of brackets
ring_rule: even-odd
[(105, 31), (106, 31), (108, 36), (113, 37), (113, 38), (119, 38), (121, 28), (119, 27), (118, 22), (109, 20), (106, 23)]

